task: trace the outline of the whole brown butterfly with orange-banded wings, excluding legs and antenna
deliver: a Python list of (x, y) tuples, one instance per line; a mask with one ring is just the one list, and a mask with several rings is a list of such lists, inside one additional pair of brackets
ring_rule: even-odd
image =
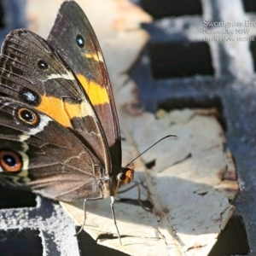
[(0, 55), (0, 181), (54, 200), (108, 198), (129, 183), (102, 50), (79, 5), (49, 38), (10, 32)]

